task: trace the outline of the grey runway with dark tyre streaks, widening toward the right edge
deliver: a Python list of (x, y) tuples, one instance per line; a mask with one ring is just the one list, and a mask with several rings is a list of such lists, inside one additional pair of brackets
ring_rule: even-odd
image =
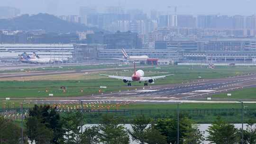
[[(177, 100), (205, 99), (213, 94), (256, 87), (256, 75), (238, 76), (226, 79), (194, 81), (186, 84), (149, 86), (140, 90), (105, 93), (72, 98), (43, 98), (47, 101), (84, 100), (113, 102), (176, 102)], [(36, 100), (33, 98), (25, 100)]]

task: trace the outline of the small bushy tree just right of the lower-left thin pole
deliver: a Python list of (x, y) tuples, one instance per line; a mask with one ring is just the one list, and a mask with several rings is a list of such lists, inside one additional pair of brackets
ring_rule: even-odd
[(97, 126), (86, 127), (82, 134), (82, 144), (99, 144), (98, 134)]

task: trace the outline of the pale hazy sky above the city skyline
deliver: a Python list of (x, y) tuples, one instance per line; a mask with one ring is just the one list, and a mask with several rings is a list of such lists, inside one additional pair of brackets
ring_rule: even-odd
[[(256, 0), (1, 0), (0, 6), (16, 7), (21, 13), (39, 12), (55, 15), (78, 15), (80, 6), (107, 6), (126, 9), (167, 11), (167, 6), (178, 6), (178, 14), (252, 15), (256, 13)], [(169, 9), (174, 11), (173, 9)]]

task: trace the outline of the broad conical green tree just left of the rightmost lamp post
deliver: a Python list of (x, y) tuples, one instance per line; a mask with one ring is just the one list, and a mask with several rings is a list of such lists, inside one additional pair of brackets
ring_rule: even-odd
[(237, 144), (239, 141), (238, 129), (220, 117), (206, 131), (209, 133), (207, 141), (210, 141), (210, 144)]

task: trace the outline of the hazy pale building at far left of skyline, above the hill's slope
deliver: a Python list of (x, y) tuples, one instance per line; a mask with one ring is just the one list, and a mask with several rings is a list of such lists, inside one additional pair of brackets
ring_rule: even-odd
[(0, 7), (0, 18), (14, 18), (20, 14), (17, 8)]

